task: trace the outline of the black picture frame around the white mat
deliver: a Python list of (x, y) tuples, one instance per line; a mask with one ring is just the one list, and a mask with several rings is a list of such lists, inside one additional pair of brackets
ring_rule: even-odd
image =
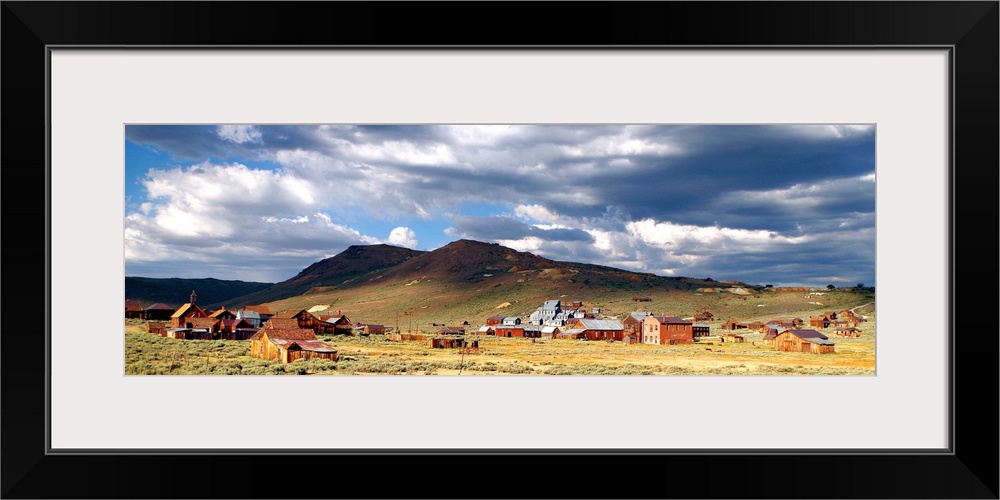
[[(997, 443), (981, 436), (998, 422), (995, 327), (979, 324), (996, 318), (997, 1), (553, 5), (571, 5), (572, 16), (538, 3), (2, 3), (2, 252), (9, 271), (35, 273), (8, 274), (3, 311), (22, 318), (42, 305), (52, 314), (49, 231), (39, 215), (47, 214), (51, 46), (946, 46), (954, 102), (949, 453), (53, 455), (47, 336), (37, 321), (13, 320), (0, 352), (4, 498), (998, 498)], [(777, 473), (786, 470), (801, 472)], [(311, 480), (289, 480), (299, 473)]]

